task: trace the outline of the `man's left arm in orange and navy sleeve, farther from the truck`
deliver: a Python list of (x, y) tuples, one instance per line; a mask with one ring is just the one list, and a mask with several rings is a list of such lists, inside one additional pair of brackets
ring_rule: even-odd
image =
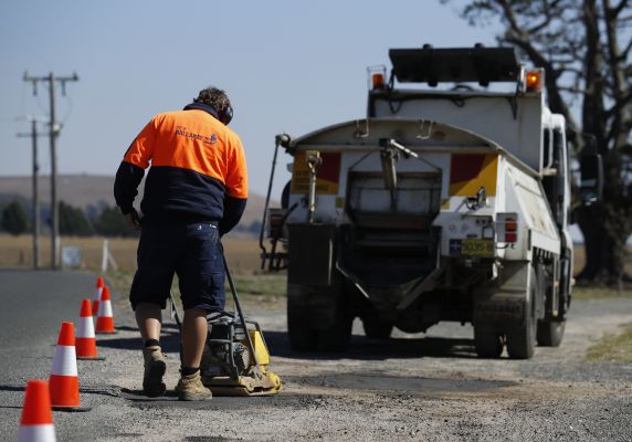
[(154, 155), (154, 137), (156, 118), (145, 126), (125, 152), (125, 157), (116, 171), (114, 181), (114, 199), (123, 214), (135, 213), (134, 199), (138, 194), (138, 185), (145, 176), (145, 169)]

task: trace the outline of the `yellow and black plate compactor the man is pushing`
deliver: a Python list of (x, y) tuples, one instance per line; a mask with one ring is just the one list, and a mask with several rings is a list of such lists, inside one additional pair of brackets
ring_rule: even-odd
[[(281, 391), (281, 378), (267, 369), (270, 352), (259, 323), (243, 315), (225, 257), (224, 269), (235, 312), (212, 312), (200, 364), (202, 383), (214, 396), (267, 396)], [(182, 323), (171, 295), (172, 314), (182, 333)], [(180, 357), (181, 357), (180, 352)]]

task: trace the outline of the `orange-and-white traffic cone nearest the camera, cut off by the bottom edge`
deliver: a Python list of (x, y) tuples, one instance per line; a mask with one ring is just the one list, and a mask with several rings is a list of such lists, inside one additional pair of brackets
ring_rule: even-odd
[(27, 382), (18, 442), (55, 442), (51, 393), (45, 380)]

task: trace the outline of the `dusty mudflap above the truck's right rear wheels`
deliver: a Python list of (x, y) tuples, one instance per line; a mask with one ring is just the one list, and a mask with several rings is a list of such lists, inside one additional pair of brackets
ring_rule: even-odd
[(474, 290), (474, 325), (497, 324), (510, 327), (524, 324), (531, 283), (529, 275), (528, 261), (504, 262), (494, 283)]

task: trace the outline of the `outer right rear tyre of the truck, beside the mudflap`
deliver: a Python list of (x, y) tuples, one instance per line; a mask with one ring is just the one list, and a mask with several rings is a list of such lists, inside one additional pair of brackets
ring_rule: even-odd
[(531, 284), (525, 302), (525, 320), (520, 327), (507, 332), (507, 352), (512, 359), (530, 359), (536, 348), (536, 330), (538, 320), (536, 318), (536, 296), (538, 293), (537, 275), (531, 269)]

